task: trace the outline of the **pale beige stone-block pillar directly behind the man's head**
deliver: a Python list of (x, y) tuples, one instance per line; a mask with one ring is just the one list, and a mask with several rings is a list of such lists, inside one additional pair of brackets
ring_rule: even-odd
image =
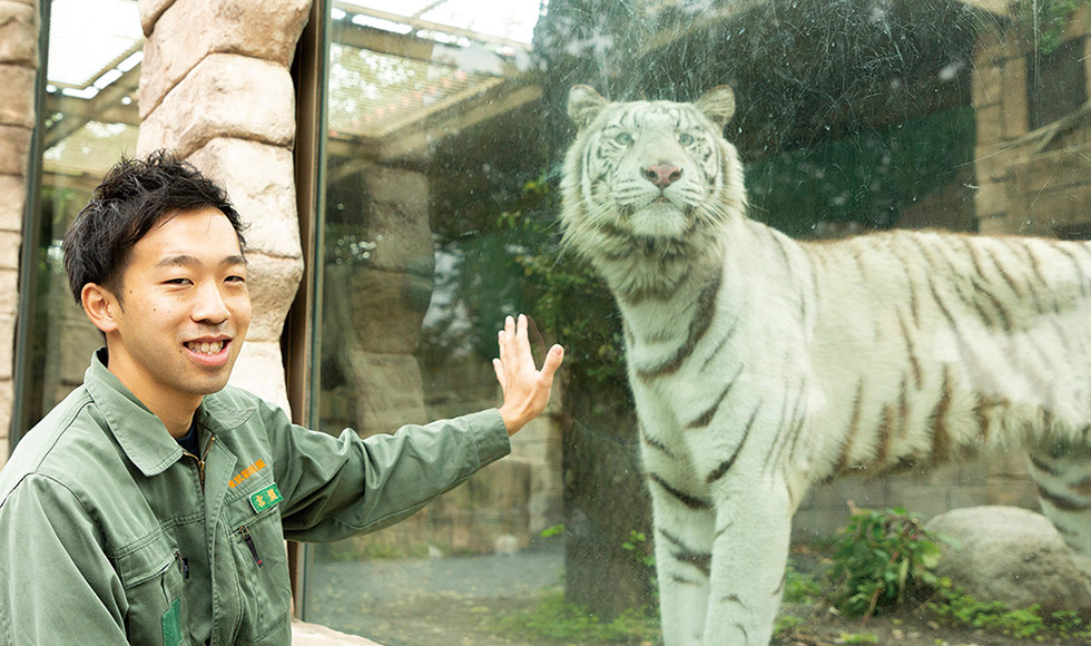
[(254, 317), (232, 383), (288, 408), (284, 317), (303, 275), (288, 67), (311, 0), (140, 0), (147, 37), (138, 153), (174, 149), (248, 225)]

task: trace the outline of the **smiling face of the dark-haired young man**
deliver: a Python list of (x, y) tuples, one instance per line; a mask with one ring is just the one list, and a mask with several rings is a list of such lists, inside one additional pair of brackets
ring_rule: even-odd
[(109, 369), (153, 412), (196, 408), (224, 388), (250, 298), (238, 236), (223, 213), (183, 212), (153, 228), (132, 247), (119, 296)]

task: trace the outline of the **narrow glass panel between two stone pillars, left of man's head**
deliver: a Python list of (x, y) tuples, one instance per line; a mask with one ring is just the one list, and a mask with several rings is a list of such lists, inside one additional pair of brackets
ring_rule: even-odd
[(43, 118), (38, 264), (21, 384), (28, 428), (83, 382), (102, 344), (68, 288), (60, 244), (121, 155), (136, 151), (144, 36), (135, 0), (53, 0)]

